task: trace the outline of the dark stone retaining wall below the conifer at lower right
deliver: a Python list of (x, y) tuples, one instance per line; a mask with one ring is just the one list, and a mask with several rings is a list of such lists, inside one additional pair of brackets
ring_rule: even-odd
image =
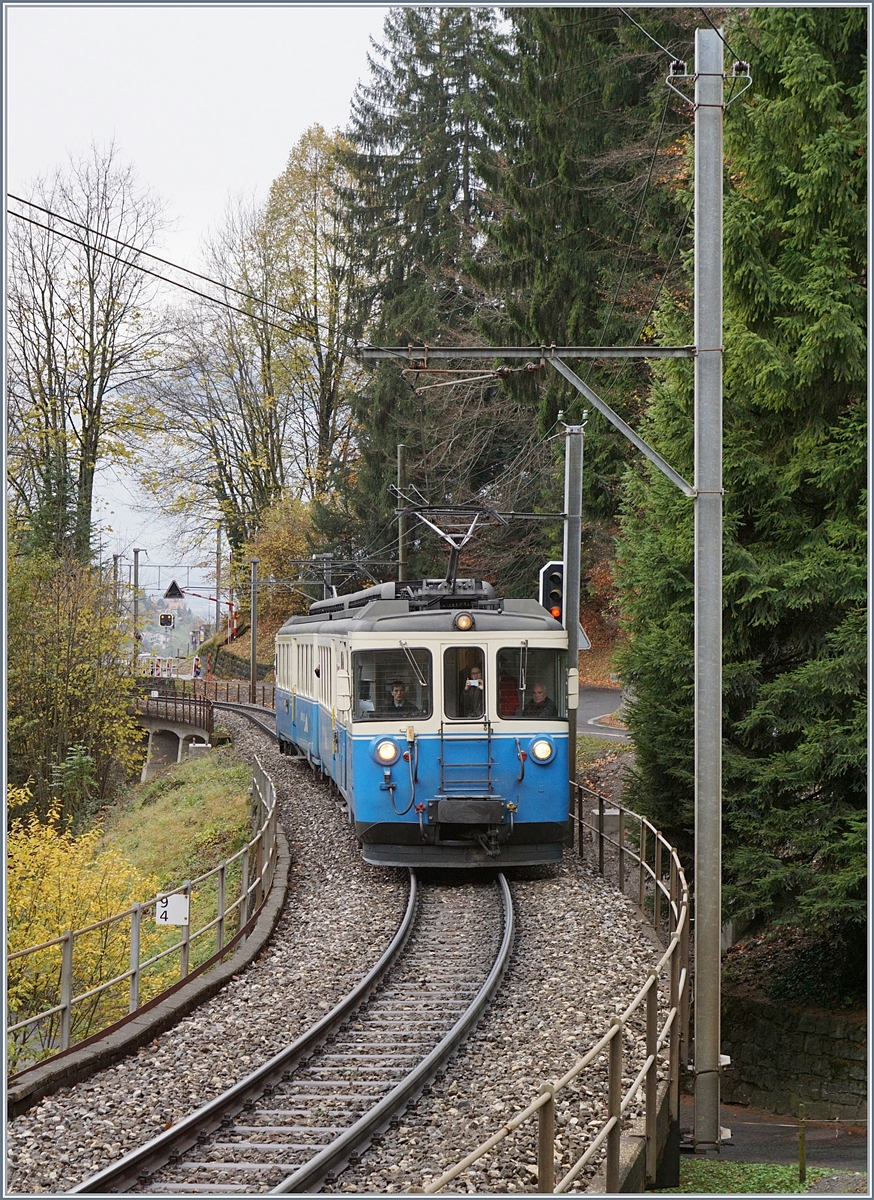
[(723, 992), (726, 1104), (812, 1120), (868, 1117), (868, 1028), (864, 1013), (796, 1008), (758, 992)]

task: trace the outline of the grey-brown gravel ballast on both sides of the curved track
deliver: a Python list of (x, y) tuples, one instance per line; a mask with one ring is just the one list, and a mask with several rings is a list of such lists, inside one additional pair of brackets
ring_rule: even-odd
[[(329, 785), (280, 756), (245, 718), (226, 713), (222, 722), (241, 755), (258, 754), (280, 797), (292, 871), (276, 932), (245, 973), (151, 1045), (11, 1121), (8, 1193), (66, 1190), (251, 1073), (341, 998), (402, 917), (406, 871), (363, 862)], [(646, 980), (656, 946), (630, 901), (575, 852), (555, 869), (517, 869), (508, 878), (516, 946), (495, 1006), (397, 1128), (323, 1192), (420, 1188), (573, 1066)], [(641, 1040), (635, 1022), (628, 1080), (642, 1061)], [(601, 1057), (557, 1098), (557, 1165), (567, 1169), (583, 1132), (603, 1121), (605, 1080)], [(537, 1192), (535, 1145), (532, 1122), (445, 1190)]]

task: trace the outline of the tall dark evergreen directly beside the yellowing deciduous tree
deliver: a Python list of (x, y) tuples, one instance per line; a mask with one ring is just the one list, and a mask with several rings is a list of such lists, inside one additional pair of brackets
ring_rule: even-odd
[[(489, 152), (492, 103), (483, 71), (499, 41), (492, 10), (393, 8), (384, 46), (370, 56), (342, 156), (353, 180), (342, 203), (361, 278), (359, 330), (372, 344), (472, 340), (481, 294), (463, 262), (483, 215), (475, 163)], [(419, 395), (424, 380), (402, 367), (379, 364), (360, 389), (359, 457), (336, 472), (337, 502), (319, 514), (323, 534), (346, 553), (395, 542), (399, 443), (412, 487), (432, 503), (460, 503), (505, 466), (520, 436), (502, 414), (489, 416), (495, 389), (486, 397), (481, 385)], [(445, 554), (432, 552), (432, 539), (413, 551), (412, 574), (442, 569)]]

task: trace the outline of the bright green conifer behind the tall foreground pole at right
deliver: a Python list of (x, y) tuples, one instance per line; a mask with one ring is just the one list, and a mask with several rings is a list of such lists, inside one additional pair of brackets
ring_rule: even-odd
[[(761, 8), (726, 35), (754, 80), (725, 139), (726, 899), (827, 929), (836, 955), (864, 935), (866, 16)], [(689, 469), (687, 366), (647, 432)], [(692, 512), (641, 480), (623, 545), (636, 797), (688, 838)]]

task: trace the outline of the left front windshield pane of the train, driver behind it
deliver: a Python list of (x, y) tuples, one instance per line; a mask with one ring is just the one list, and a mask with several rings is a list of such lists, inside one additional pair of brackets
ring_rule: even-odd
[(408, 646), (396, 650), (355, 650), (352, 655), (354, 721), (431, 715), (431, 652)]

